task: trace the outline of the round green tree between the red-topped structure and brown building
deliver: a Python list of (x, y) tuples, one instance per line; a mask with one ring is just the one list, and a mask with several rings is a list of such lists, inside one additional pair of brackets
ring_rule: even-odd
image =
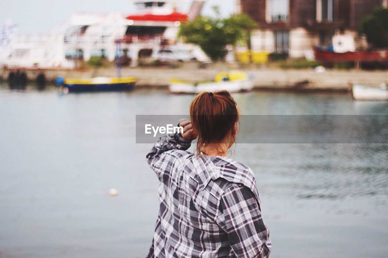
[(232, 14), (222, 19), (218, 7), (213, 9), (216, 17), (198, 16), (192, 22), (183, 23), (178, 35), (187, 43), (198, 45), (215, 62), (225, 58), (227, 45), (248, 41), (256, 23), (246, 14)]

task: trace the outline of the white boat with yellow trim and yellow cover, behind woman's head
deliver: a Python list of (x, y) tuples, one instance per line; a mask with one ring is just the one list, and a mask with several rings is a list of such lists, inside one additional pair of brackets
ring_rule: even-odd
[(191, 82), (180, 79), (171, 79), (171, 93), (200, 93), (204, 91), (250, 91), (253, 89), (253, 77), (245, 72), (231, 71), (220, 72), (214, 81)]

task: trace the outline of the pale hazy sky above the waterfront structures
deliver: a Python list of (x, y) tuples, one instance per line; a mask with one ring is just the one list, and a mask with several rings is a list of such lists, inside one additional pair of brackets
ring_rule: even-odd
[[(187, 9), (191, 3), (187, 0), (178, 2)], [(236, 10), (236, 0), (207, 0), (201, 14), (212, 15), (213, 5), (220, 7), (222, 16)], [(0, 25), (11, 19), (18, 24), (19, 33), (46, 33), (69, 19), (74, 12), (110, 11), (133, 14), (136, 9), (130, 0), (1, 0)]]

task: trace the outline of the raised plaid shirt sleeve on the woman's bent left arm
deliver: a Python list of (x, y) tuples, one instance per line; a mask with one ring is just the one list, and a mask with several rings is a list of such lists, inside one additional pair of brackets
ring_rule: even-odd
[(183, 138), (178, 132), (162, 136), (147, 154), (148, 164), (160, 176), (164, 171), (171, 169), (175, 160), (173, 155), (168, 155), (166, 152), (170, 150), (187, 150), (190, 148), (191, 141)]

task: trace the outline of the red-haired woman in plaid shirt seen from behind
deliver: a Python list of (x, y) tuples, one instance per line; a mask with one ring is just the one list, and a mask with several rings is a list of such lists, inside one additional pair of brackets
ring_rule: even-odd
[[(161, 137), (147, 154), (159, 178), (160, 210), (147, 257), (268, 257), (253, 172), (227, 158), (238, 126), (227, 91), (204, 92), (190, 104), (183, 133)], [(187, 152), (197, 138), (196, 155)]]

